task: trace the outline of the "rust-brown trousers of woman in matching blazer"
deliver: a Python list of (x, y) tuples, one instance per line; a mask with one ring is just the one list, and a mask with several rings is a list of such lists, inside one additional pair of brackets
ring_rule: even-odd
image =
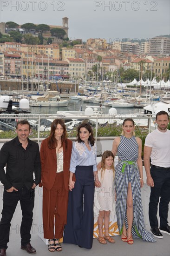
[[(44, 238), (62, 238), (67, 214), (68, 192), (63, 172), (57, 173), (51, 190), (43, 187)], [(55, 227), (55, 229), (54, 229)]]

